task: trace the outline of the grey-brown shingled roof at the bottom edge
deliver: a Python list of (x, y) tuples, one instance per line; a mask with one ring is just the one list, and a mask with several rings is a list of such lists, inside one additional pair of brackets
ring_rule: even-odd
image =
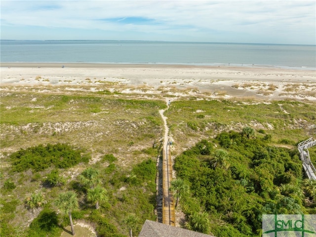
[(186, 229), (146, 220), (138, 237), (213, 237)]

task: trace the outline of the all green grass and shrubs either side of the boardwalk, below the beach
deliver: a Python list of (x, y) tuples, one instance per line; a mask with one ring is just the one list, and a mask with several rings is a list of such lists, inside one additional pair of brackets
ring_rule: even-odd
[[(124, 95), (108, 88), (122, 85), (101, 86), (1, 93), (1, 236), (60, 237), (70, 219), (55, 200), (67, 191), (79, 201), (74, 223), (91, 223), (100, 237), (130, 230), (137, 236), (146, 219), (156, 220), (159, 110), (166, 108), (163, 96), (174, 95)], [(316, 214), (315, 184), (304, 180), (295, 147), (316, 134), (315, 103), (188, 96), (173, 101), (165, 116), (177, 179), (190, 188), (179, 198), (187, 228), (259, 236), (261, 213)], [(316, 164), (316, 147), (310, 154)], [(35, 193), (44, 200), (32, 208), (26, 200)]]

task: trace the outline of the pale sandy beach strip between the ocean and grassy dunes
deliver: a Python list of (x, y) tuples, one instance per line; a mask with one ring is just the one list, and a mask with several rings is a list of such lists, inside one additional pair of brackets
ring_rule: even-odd
[[(0, 85), (100, 87), (112, 82), (120, 93), (157, 94), (158, 88), (210, 97), (253, 97), (316, 101), (316, 71), (260, 67), (187, 66), (156, 64), (1, 63)], [(107, 85), (107, 87), (109, 87)], [(144, 92), (145, 91), (145, 92)]]

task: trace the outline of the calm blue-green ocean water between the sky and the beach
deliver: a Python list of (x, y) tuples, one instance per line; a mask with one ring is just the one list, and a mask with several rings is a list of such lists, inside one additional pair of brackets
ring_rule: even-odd
[(316, 69), (315, 45), (154, 41), (0, 41), (1, 62), (131, 63)]

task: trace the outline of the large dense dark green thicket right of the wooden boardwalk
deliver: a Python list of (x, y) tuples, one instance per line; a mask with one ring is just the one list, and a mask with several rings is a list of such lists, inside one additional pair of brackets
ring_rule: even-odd
[(259, 237), (262, 214), (308, 214), (316, 207), (315, 184), (304, 181), (297, 149), (270, 145), (249, 131), (222, 132), (176, 157), (177, 177), (190, 184), (190, 194), (180, 200), (188, 228), (217, 237)]

